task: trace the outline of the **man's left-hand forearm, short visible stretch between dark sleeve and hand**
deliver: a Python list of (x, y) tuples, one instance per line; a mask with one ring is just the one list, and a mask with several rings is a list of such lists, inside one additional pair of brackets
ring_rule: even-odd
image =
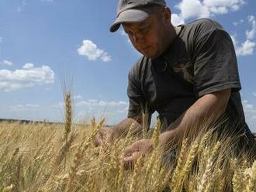
[(133, 134), (140, 134), (140, 132), (142, 132), (142, 126), (133, 118), (126, 118), (122, 122), (119, 122), (119, 124), (112, 126), (112, 129), (114, 129), (119, 136), (126, 135), (130, 128)]

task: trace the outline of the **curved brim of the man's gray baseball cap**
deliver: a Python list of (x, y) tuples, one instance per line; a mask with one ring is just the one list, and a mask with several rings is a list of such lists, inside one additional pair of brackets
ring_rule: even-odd
[(116, 21), (110, 27), (110, 32), (116, 32), (119, 26), (123, 22), (142, 22), (147, 19), (149, 13), (140, 9), (129, 9), (122, 12), (116, 19)]

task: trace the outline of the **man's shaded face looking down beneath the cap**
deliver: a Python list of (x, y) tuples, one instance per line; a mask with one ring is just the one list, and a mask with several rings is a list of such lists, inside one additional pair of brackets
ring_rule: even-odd
[(137, 51), (155, 58), (164, 52), (165, 25), (159, 15), (152, 14), (143, 22), (123, 23), (123, 29)]

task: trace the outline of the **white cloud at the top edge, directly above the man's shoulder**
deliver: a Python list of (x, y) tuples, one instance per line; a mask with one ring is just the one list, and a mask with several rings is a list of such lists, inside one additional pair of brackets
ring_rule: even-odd
[(173, 22), (227, 14), (230, 11), (237, 11), (242, 5), (244, 5), (244, 0), (182, 0), (175, 5), (180, 13), (175, 14)]

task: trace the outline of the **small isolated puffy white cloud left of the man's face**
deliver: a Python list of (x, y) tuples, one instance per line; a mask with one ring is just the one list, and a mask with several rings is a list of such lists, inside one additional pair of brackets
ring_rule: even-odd
[(101, 59), (103, 62), (111, 61), (111, 56), (104, 50), (100, 50), (98, 46), (91, 40), (83, 40), (82, 45), (78, 48), (78, 54), (85, 56), (88, 60)]

